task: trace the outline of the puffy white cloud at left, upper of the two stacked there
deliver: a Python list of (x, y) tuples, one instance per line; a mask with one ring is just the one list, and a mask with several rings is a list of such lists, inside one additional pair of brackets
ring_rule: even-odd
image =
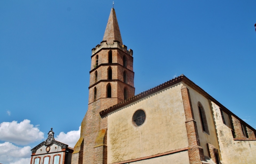
[(26, 145), (43, 139), (43, 132), (30, 124), (30, 120), (23, 120), (20, 123), (2, 122), (0, 124), (0, 140), (13, 142), (19, 145)]

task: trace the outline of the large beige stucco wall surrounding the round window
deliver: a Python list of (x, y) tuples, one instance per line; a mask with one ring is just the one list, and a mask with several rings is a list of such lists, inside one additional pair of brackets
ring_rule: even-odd
[[(108, 114), (108, 163), (188, 147), (181, 87), (180, 83), (165, 88)], [(146, 120), (136, 127), (132, 117), (140, 108)]]

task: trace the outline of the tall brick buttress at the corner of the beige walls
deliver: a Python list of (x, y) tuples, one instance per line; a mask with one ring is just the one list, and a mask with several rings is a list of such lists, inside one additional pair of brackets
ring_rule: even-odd
[(200, 140), (197, 131), (196, 121), (194, 120), (189, 89), (186, 86), (181, 87), (181, 95), (186, 116), (186, 128), (189, 144), (189, 162), (190, 164), (202, 164), (202, 161), (205, 161), (203, 148), (200, 146)]

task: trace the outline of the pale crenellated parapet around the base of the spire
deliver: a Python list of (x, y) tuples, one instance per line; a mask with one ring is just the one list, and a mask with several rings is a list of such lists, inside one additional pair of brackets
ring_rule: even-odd
[(114, 41), (113, 44), (108, 44), (107, 41), (100, 42), (100, 44), (96, 45), (96, 47), (92, 49), (92, 55), (100, 51), (102, 48), (118, 48), (126, 52), (128, 55), (133, 56), (133, 50), (132, 49), (127, 50), (127, 46), (120, 45), (119, 41)]

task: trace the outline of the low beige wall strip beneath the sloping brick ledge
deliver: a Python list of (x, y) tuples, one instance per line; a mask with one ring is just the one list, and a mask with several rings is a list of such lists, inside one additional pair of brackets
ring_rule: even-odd
[(188, 151), (137, 161), (131, 164), (189, 164)]

